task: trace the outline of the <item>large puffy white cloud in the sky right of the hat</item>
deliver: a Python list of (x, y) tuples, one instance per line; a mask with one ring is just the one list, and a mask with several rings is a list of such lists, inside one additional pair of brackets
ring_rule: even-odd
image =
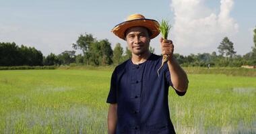
[(172, 40), (176, 52), (191, 54), (195, 52), (216, 51), (225, 36), (234, 36), (238, 24), (230, 17), (233, 0), (221, 0), (220, 12), (205, 6), (204, 0), (172, 0), (174, 25)]

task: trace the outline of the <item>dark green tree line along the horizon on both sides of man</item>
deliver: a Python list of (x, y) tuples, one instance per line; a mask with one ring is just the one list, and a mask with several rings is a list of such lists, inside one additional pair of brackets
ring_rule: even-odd
[[(218, 52), (190, 54), (183, 56), (174, 54), (181, 66), (230, 66), (240, 67), (242, 65), (256, 65), (256, 27), (253, 36), (254, 46), (251, 52), (241, 56), (236, 54), (234, 44), (223, 38), (218, 46)], [(64, 51), (61, 54), (49, 54), (43, 56), (42, 52), (27, 46), (17, 46), (13, 43), (0, 43), (0, 66), (60, 66), (60, 65), (88, 65), (108, 66), (118, 65), (131, 58), (131, 52), (121, 44), (111, 48), (107, 39), (97, 40), (92, 34), (82, 34), (75, 44), (71, 44), (74, 50)], [(82, 54), (75, 54), (75, 50), (81, 50)], [(154, 48), (150, 47), (154, 53)]]

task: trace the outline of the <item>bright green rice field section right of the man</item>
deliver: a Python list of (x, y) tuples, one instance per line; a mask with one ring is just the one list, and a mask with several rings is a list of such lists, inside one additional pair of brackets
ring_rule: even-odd
[(191, 74), (183, 97), (170, 92), (171, 118), (180, 133), (255, 133), (256, 78)]

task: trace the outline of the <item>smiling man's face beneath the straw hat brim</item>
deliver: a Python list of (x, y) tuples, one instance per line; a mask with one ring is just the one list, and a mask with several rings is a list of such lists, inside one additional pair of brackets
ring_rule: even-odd
[(149, 51), (150, 36), (145, 27), (127, 29), (125, 38), (132, 54), (141, 55)]

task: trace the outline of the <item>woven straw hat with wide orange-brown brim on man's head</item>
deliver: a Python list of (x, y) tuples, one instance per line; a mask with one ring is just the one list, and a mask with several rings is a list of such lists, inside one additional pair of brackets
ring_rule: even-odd
[(119, 38), (125, 40), (125, 31), (130, 27), (146, 27), (151, 31), (150, 39), (155, 38), (159, 34), (159, 23), (154, 19), (146, 19), (143, 15), (133, 14), (127, 17), (127, 20), (116, 25), (112, 32)]

